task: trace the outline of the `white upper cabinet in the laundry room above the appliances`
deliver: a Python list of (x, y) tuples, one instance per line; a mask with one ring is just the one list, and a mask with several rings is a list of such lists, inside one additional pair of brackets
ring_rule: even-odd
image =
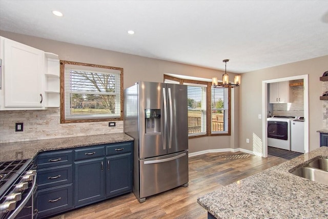
[(270, 104), (291, 103), (293, 101), (289, 81), (270, 83), (269, 92)]

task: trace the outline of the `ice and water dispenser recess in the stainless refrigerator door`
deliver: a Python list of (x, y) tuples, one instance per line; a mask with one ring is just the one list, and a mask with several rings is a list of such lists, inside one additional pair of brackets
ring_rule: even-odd
[(146, 133), (160, 133), (160, 109), (145, 109)]

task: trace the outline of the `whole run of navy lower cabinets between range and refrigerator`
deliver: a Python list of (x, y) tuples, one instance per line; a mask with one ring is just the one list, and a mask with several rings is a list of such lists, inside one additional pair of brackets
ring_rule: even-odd
[(37, 164), (37, 218), (132, 191), (133, 142), (46, 151)]

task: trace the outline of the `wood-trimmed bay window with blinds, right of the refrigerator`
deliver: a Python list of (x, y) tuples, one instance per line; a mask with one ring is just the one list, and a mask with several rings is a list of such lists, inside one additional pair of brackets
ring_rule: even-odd
[(164, 75), (165, 83), (188, 86), (189, 138), (230, 135), (231, 88), (214, 88), (211, 82)]

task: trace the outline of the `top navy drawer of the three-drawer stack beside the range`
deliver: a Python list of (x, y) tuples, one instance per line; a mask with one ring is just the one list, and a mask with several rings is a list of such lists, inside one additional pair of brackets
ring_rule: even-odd
[(37, 169), (69, 165), (73, 163), (73, 150), (43, 152), (35, 161)]

